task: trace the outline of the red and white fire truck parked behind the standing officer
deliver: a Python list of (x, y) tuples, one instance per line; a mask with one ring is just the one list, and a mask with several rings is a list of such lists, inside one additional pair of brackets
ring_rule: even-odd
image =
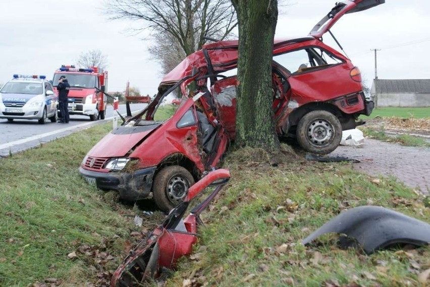
[(102, 71), (98, 67), (82, 69), (63, 65), (55, 71), (52, 79), (57, 94), (61, 76), (66, 76), (70, 85), (69, 114), (89, 116), (91, 121), (104, 120), (107, 104), (104, 91), (108, 88), (108, 71)]

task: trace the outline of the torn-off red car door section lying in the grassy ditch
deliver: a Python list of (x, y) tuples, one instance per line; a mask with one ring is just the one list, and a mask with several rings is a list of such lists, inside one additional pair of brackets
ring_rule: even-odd
[[(185, 200), (172, 209), (163, 223), (124, 259), (112, 277), (111, 286), (141, 286), (158, 278), (166, 269), (174, 268), (180, 257), (190, 254), (197, 241), (200, 213), (229, 179), (230, 173), (227, 169), (217, 169), (194, 184)], [(190, 201), (208, 186), (215, 187), (213, 192), (182, 219)]]

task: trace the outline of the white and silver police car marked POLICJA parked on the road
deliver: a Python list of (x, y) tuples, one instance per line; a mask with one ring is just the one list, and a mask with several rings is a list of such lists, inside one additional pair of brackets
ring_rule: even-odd
[(17, 75), (0, 90), (0, 119), (57, 122), (58, 96), (45, 76)]

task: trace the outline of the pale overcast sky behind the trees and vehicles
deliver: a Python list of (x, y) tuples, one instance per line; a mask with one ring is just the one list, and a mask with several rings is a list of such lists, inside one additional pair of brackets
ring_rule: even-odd
[[(336, 0), (289, 0), (281, 7), (275, 37), (305, 36)], [(108, 91), (130, 86), (154, 94), (162, 79), (151, 59), (145, 35), (130, 36), (136, 22), (109, 21), (101, 0), (1, 0), (0, 84), (13, 74), (52, 78), (61, 65), (72, 65), (81, 53), (100, 49), (108, 57)], [(362, 72), (367, 85), (374, 78), (374, 51), (379, 79), (430, 79), (430, 1), (386, 0), (347, 14), (332, 28), (346, 54)], [(330, 35), (324, 42), (339, 49)]]

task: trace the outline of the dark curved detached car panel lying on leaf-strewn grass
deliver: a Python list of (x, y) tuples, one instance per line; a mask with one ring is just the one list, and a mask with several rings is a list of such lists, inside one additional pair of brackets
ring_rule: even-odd
[(430, 224), (380, 206), (359, 206), (340, 213), (306, 237), (306, 245), (326, 233), (346, 234), (367, 254), (392, 244), (430, 243)]

